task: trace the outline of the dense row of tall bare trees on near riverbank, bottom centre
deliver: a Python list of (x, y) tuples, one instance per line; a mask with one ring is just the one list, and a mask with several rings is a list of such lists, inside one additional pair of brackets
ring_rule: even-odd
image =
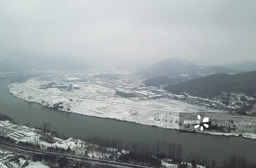
[(105, 158), (111, 155), (112, 159), (118, 158), (118, 153), (131, 151), (141, 156), (156, 156), (158, 159), (167, 159), (169, 162), (181, 162), (183, 148), (180, 143), (166, 141), (156, 141), (154, 144), (142, 141), (123, 140), (122, 138), (103, 138), (90, 135), (84, 140), (89, 144), (78, 144), (78, 146), (87, 148), (88, 152), (95, 152)]

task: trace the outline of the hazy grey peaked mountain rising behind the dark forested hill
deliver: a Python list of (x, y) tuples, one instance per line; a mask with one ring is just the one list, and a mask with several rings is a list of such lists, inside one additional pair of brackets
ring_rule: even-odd
[(171, 58), (168, 60), (160, 61), (152, 66), (146, 68), (143, 71), (140, 71), (144, 77), (158, 77), (158, 76), (167, 76), (167, 77), (175, 77), (175, 76), (183, 76), (184, 80), (193, 79), (196, 77), (202, 77), (210, 74), (233, 74), (237, 73), (237, 70), (229, 69), (220, 66), (203, 66), (196, 65), (192, 62), (188, 62), (185, 60), (180, 60), (176, 58)]

